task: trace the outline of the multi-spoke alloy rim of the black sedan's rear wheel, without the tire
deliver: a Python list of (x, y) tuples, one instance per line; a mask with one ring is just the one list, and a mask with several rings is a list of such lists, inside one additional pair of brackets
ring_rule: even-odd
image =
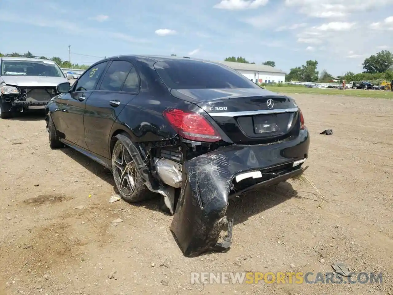
[(128, 150), (119, 144), (112, 157), (112, 167), (116, 186), (125, 196), (131, 195), (135, 190), (136, 168)]

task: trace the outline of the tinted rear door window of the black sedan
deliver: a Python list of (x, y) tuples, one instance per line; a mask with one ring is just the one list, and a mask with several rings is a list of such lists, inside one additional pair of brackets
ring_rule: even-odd
[(99, 90), (120, 91), (131, 68), (132, 64), (128, 61), (113, 61), (102, 79)]

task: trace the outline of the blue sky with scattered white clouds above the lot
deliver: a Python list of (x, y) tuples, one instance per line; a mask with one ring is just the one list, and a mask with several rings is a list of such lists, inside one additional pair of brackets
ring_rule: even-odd
[(393, 0), (1, 0), (0, 9), (0, 52), (68, 60), (71, 45), (79, 64), (121, 54), (234, 55), (286, 72), (315, 59), (318, 70), (341, 75), (393, 51)]

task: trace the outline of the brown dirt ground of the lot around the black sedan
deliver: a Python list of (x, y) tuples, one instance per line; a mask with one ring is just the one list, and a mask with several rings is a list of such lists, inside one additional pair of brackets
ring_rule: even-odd
[[(182, 255), (158, 199), (109, 203), (107, 170), (70, 148), (51, 150), (42, 115), (0, 120), (0, 294), (393, 294), (393, 101), (292, 97), (311, 133), (305, 175), (326, 201), (318, 208), (310, 185), (290, 181), (250, 192), (230, 203), (230, 251), (196, 258)], [(335, 262), (382, 272), (383, 283), (190, 279), (192, 271), (330, 272)]]

